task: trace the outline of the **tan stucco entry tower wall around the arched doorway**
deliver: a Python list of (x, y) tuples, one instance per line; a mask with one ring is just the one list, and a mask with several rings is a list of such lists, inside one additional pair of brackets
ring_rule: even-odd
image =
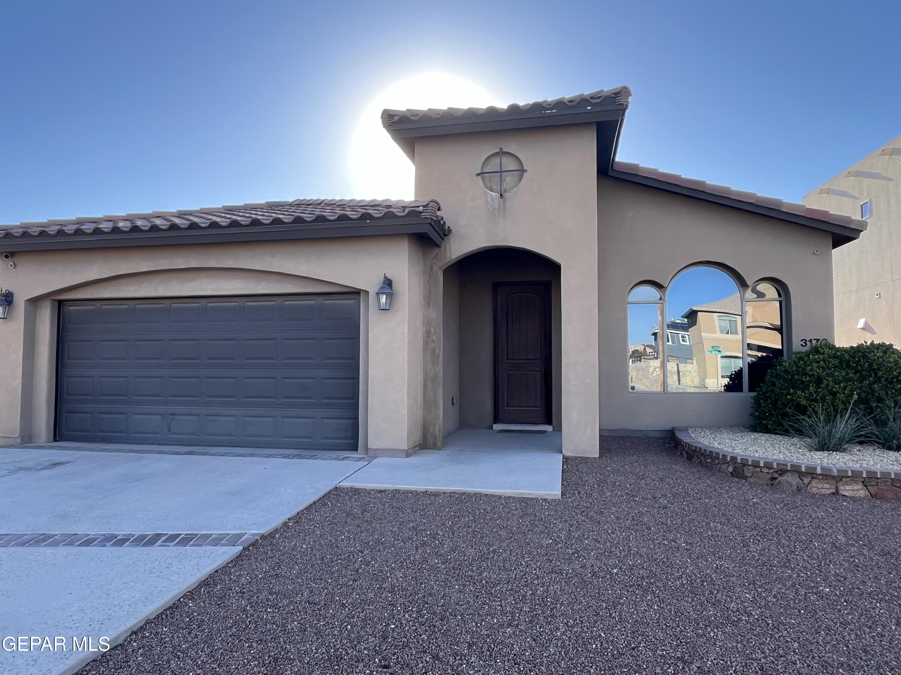
[[(503, 200), (476, 176), (498, 148), (528, 173)], [(442, 270), (491, 247), (515, 247), (560, 265), (560, 427), (566, 455), (598, 454), (597, 218), (594, 124), (417, 139), (417, 199), (441, 202), (453, 234), (425, 250), (423, 443), (441, 446), (448, 410), (442, 373)], [(450, 347), (450, 346), (449, 346)], [(460, 370), (460, 380), (467, 378)]]

